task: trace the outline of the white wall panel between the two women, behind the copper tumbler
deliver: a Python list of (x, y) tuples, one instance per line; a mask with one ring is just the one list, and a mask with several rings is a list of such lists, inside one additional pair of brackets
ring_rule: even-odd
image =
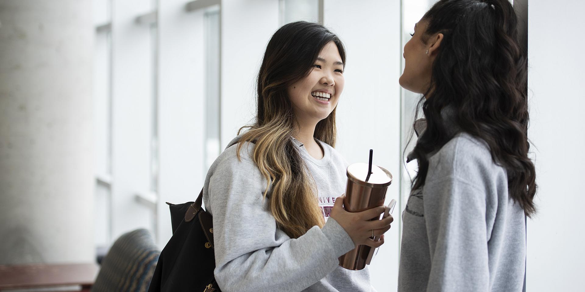
[[(339, 35), (347, 54), (336, 149), (350, 163), (367, 162), (374, 150), (374, 164), (394, 176), (386, 203), (400, 199), (400, 9), (399, 0), (329, 0), (324, 11), (325, 26)], [(393, 215), (393, 228), (370, 265), (371, 283), (380, 292), (397, 289), (399, 208)]]

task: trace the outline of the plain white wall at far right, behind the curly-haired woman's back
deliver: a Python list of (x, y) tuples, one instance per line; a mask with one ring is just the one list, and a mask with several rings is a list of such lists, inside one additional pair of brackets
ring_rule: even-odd
[(526, 291), (583, 291), (585, 2), (528, 2), (529, 138), (538, 213), (528, 221)]

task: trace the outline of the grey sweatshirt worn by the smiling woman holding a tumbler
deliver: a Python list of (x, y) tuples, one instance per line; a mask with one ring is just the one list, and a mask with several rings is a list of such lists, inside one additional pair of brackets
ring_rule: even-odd
[[(238, 141), (236, 137), (230, 145)], [(347, 232), (328, 218), (335, 198), (345, 192), (347, 163), (323, 142), (324, 158), (311, 157), (294, 140), (315, 179), (326, 218), (297, 239), (278, 229), (263, 200), (266, 179), (252, 160), (254, 144), (228, 147), (207, 173), (203, 189), (205, 208), (213, 215), (215, 279), (223, 292), (231, 291), (372, 291), (368, 269), (346, 270), (338, 257), (355, 248)]]

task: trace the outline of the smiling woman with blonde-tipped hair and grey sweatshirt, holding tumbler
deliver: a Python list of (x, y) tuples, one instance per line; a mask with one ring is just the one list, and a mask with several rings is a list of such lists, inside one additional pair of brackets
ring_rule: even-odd
[(370, 237), (393, 221), (370, 221), (384, 206), (349, 213), (338, 197), (347, 166), (333, 149), (344, 68), (342, 42), (322, 25), (290, 23), (270, 39), (256, 123), (230, 142), (205, 179), (223, 292), (373, 290), (368, 269), (338, 266), (357, 245), (383, 244)]

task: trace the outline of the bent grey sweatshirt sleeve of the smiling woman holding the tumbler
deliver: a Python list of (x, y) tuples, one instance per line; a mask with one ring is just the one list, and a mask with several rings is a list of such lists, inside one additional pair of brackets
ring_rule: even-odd
[(333, 218), (291, 239), (277, 228), (265, 188), (259, 169), (245, 157), (225, 159), (209, 180), (215, 279), (224, 292), (302, 291), (355, 247)]

